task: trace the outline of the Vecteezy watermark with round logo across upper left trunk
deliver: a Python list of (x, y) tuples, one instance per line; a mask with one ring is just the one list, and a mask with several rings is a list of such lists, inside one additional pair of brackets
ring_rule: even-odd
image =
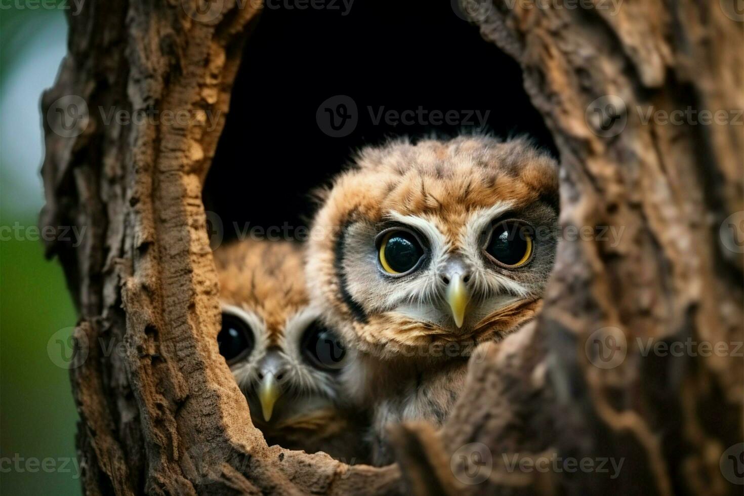
[[(98, 106), (98, 120), (104, 126), (204, 126), (208, 132), (214, 131), (222, 116), (219, 110), (211, 109), (147, 109), (128, 110), (116, 106)], [(47, 111), (47, 122), (52, 131), (62, 138), (74, 138), (85, 132), (92, 115), (86, 100), (75, 94), (58, 98)]]

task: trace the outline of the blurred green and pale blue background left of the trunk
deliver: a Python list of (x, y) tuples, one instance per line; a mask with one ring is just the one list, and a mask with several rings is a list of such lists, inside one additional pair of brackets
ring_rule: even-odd
[(74, 10), (73, 2), (0, 0), (2, 495), (81, 492), (68, 370), (57, 367), (47, 352), (55, 332), (74, 326), (74, 308), (62, 269), (56, 260), (45, 260), (42, 243), (5, 227), (38, 223), (43, 204), (39, 99), (54, 83), (65, 54), (68, 3)]

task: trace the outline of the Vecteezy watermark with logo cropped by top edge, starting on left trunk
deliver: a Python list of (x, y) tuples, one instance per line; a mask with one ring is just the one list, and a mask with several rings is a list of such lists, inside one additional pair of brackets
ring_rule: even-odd
[(348, 16), (355, 0), (235, 0), (234, 7), (225, 0), (181, 0), (181, 7), (191, 19), (205, 24), (218, 22), (226, 8), (243, 10), (329, 10)]

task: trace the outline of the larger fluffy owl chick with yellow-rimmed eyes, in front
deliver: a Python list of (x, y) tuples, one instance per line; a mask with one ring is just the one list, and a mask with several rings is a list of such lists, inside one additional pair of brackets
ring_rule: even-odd
[(475, 344), (533, 318), (554, 263), (557, 164), (524, 139), (362, 149), (315, 216), (311, 299), (357, 350), (344, 389), (386, 426), (441, 425)]

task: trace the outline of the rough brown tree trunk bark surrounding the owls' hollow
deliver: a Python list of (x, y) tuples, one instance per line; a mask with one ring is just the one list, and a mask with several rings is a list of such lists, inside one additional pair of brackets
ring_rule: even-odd
[[(619, 242), (564, 236), (539, 320), (482, 350), (439, 435), (397, 428), (399, 463), (384, 468), (267, 446), (217, 350), (201, 188), (255, 4), (93, 1), (70, 17), (42, 101), (41, 222), (87, 228), (77, 248), (48, 245), (80, 311), (86, 494), (734, 494), (719, 462), (744, 438), (743, 360), (639, 344), (744, 338), (743, 258), (719, 233), (744, 210), (742, 128), (644, 123), (636, 109), (743, 108), (744, 23), (725, 0), (626, 1), (615, 15), (600, 0), (538, 4), (498, 0), (474, 17), (521, 63), (554, 134), (562, 225), (609, 226)], [(98, 109), (190, 118), (104, 125)], [(55, 120), (80, 115), (71, 132)], [(597, 343), (624, 360), (606, 367)], [(509, 470), (513, 455), (625, 461), (611, 480)]]

